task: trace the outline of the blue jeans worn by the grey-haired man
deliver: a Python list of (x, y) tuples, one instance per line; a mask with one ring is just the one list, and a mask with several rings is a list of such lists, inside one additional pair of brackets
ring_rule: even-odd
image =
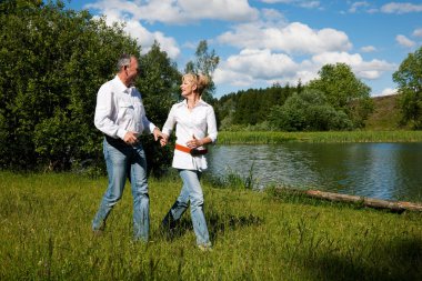
[(133, 234), (135, 240), (148, 241), (150, 228), (150, 198), (148, 194), (147, 159), (141, 144), (127, 145), (122, 141), (103, 142), (109, 185), (102, 198), (92, 230), (105, 225), (107, 217), (121, 199), (127, 177), (131, 183), (133, 198)]

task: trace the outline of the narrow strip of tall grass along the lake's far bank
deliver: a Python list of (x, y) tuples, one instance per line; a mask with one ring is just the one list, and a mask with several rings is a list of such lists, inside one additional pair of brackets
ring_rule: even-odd
[(422, 131), (350, 131), (350, 132), (270, 132), (222, 131), (222, 144), (277, 144), (287, 141), (305, 142), (421, 142)]

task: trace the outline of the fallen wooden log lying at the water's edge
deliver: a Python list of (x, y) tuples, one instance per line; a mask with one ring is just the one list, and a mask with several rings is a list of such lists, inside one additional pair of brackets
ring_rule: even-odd
[(307, 190), (305, 194), (313, 198), (322, 198), (331, 201), (341, 201), (341, 202), (356, 202), (362, 203), (365, 207), (376, 208), (376, 209), (389, 209), (395, 212), (409, 211), (419, 211), (422, 212), (422, 204), (404, 202), (404, 201), (389, 201), (374, 198), (365, 198), (358, 195), (348, 195), (333, 192), (325, 192), (320, 190)]

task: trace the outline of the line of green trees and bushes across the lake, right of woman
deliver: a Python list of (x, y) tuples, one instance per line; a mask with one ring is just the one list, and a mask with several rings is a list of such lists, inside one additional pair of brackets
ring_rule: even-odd
[(222, 130), (353, 130), (373, 111), (370, 91), (348, 64), (326, 64), (304, 86), (299, 81), (230, 93), (215, 109)]

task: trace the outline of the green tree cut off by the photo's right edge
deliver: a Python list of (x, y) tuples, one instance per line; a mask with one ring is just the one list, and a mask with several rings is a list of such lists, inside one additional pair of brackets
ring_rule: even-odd
[(414, 129), (422, 129), (422, 47), (400, 64), (393, 73), (399, 84), (399, 103), (403, 122), (411, 122)]

